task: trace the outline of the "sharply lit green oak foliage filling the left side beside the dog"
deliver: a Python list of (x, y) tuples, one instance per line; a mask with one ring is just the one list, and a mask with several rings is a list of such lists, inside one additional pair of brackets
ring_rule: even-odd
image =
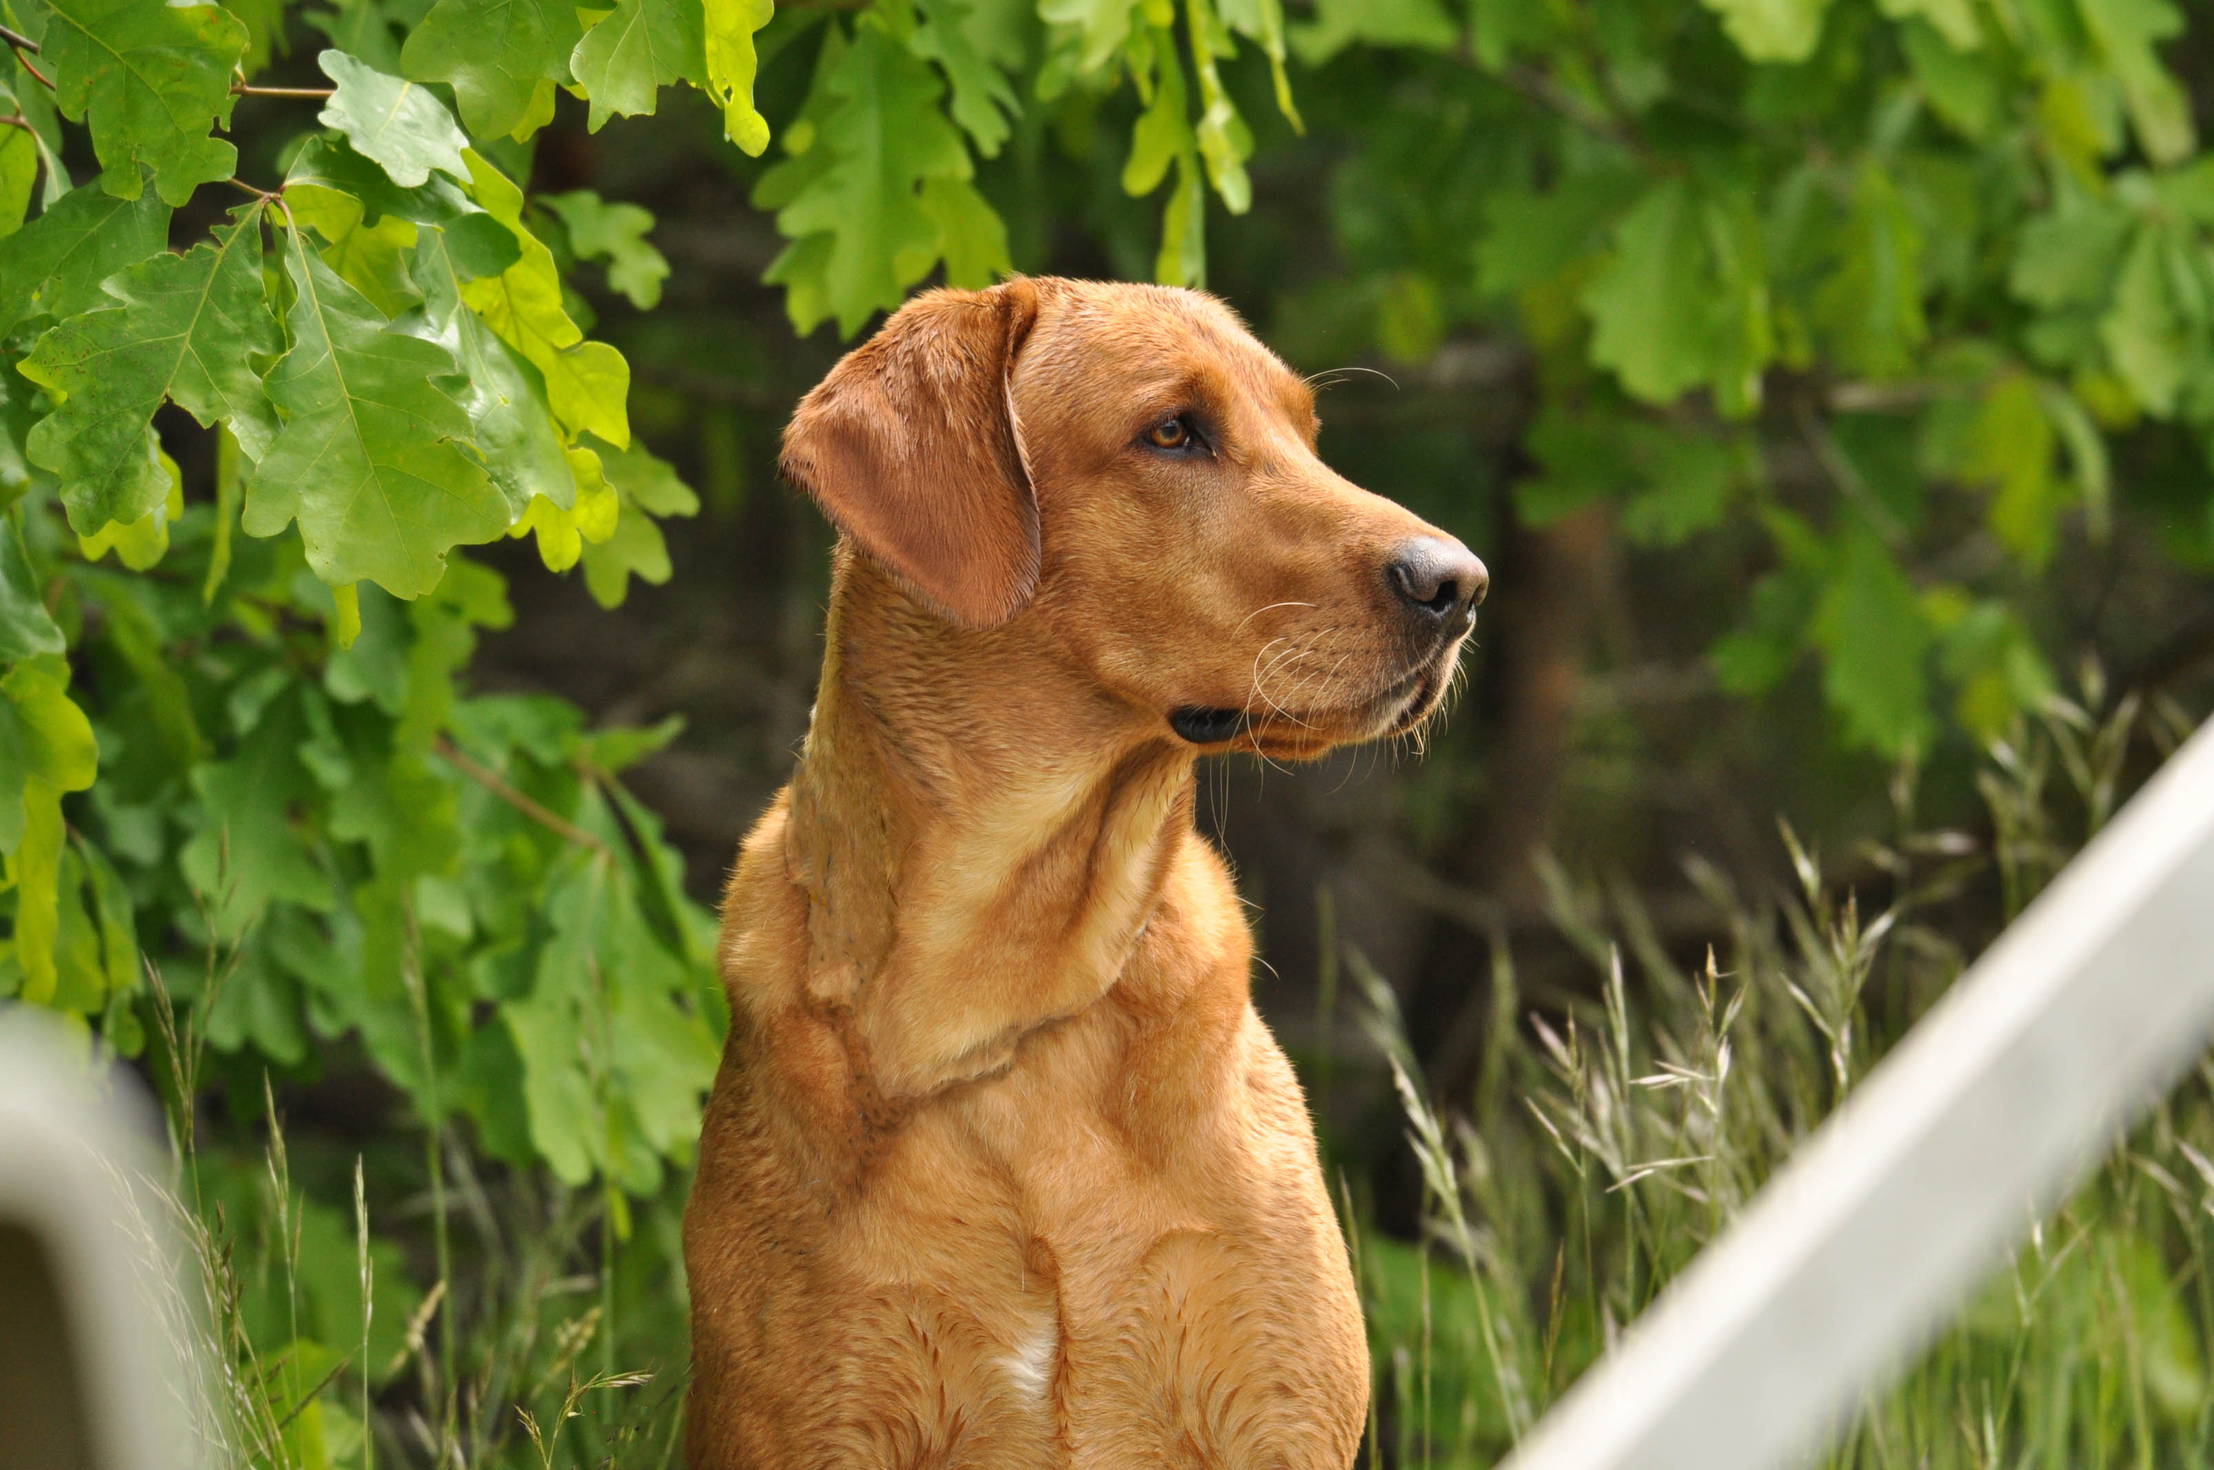
[[(540, 206), (478, 148), (545, 122), (584, 22), (443, 7), (401, 44), (368, 0), (312, 18), (363, 55), (321, 51), (321, 115), (272, 139), (288, 168), (261, 188), (217, 128), (261, 91), (281, 9), (0, 20), (24, 38), (0, 126), (0, 996), (135, 1054), (139, 939), (224, 952), (175, 998), (237, 1076), (354, 1047), (434, 1133), (465, 1120), (627, 1218), (689, 1158), (722, 1032), (708, 923), (618, 781), (673, 728), (587, 733), (461, 682), (511, 618), (465, 547), (536, 534), (615, 604), (669, 578), (655, 518), (697, 511), (631, 445), (629, 365), (565, 294), (562, 261), (607, 261), (651, 308), (653, 217)], [(49, 82), (51, 104), (20, 91)], [(77, 188), (60, 120), (106, 168)], [(173, 252), (170, 210), (208, 219), (215, 182), (246, 201)], [(170, 407), (213, 429), (213, 503), (184, 498)], [(308, 1255), (337, 1229), (317, 1209)], [(317, 1379), (361, 1319), (330, 1311), (257, 1333), (299, 1339), (281, 1375), (337, 1424)], [(372, 1350), (410, 1311), (379, 1306)]]

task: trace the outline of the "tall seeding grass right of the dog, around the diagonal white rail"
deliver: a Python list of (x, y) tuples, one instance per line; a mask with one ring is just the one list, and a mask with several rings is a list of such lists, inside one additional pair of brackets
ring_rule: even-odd
[[(1373, 1466), (1488, 1466), (1528, 1430), (1959, 974), (1979, 892), (2019, 912), (2117, 806), (2141, 742), (2187, 722), (2055, 702), (1993, 753), (1997, 839), (1913, 824), (1858, 857), (1880, 912), (1789, 828), (1791, 892), (1751, 901), (1689, 866), (1720, 941), (1680, 965), (1632, 894), (1550, 874), (1594, 994), (1523, 1012), (1499, 945), (1475, 1096), (1435, 1100), (1390, 985), (1351, 974), (1421, 1162), (1424, 1238), (1359, 1240), (1377, 1359)], [(1990, 923), (1984, 925), (1986, 930)], [(2210, 959), (2214, 963), (2214, 959)], [(2214, 1463), (2214, 1065), (2037, 1222), (1820, 1463), (1997, 1470)]]

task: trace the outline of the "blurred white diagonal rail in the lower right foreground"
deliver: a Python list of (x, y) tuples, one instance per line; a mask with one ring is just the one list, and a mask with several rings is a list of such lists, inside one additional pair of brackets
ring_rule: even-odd
[(1506, 1470), (1773, 1470), (1906, 1364), (2214, 1034), (2214, 722)]

